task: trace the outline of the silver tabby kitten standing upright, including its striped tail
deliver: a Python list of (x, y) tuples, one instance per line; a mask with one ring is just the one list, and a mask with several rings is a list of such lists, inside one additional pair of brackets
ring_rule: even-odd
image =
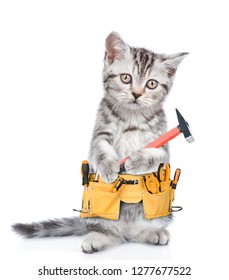
[[(166, 132), (163, 103), (173, 84), (179, 63), (187, 53), (155, 54), (128, 46), (119, 34), (106, 39), (104, 58), (104, 97), (100, 103), (89, 162), (105, 182), (113, 182), (119, 162), (126, 156), (126, 172), (156, 171), (168, 162), (168, 146), (143, 149)], [(64, 218), (31, 224), (15, 224), (13, 229), (25, 237), (52, 237), (87, 234), (82, 243), (85, 253), (94, 253), (123, 242), (165, 245), (166, 227), (171, 216), (144, 219), (142, 204), (121, 204), (117, 221), (102, 218)]]

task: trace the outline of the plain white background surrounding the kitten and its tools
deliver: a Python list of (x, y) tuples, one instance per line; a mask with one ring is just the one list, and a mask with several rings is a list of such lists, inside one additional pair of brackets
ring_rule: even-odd
[[(225, 279), (220, 276), (229, 249), (227, 4), (0, 2), (1, 279), (57, 279), (37, 276), (37, 270), (89, 265), (191, 266), (189, 279)], [(111, 31), (132, 46), (190, 53), (165, 105), (169, 128), (177, 125), (178, 108), (196, 138), (191, 145), (182, 136), (170, 143), (171, 166), (182, 169), (175, 204), (184, 207), (175, 215), (171, 242), (85, 255), (83, 237), (22, 239), (11, 224), (68, 217), (80, 208), (80, 164), (103, 95), (104, 40)]]

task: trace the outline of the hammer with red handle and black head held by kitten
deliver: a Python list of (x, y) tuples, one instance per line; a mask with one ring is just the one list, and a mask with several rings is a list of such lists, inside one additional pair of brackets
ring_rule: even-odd
[[(194, 142), (194, 138), (191, 134), (191, 131), (189, 129), (189, 124), (185, 121), (181, 113), (176, 109), (177, 119), (178, 119), (178, 126), (169, 130), (162, 136), (160, 136), (155, 141), (149, 143), (145, 146), (145, 148), (160, 148), (173, 138), (177, 137), (179, 134), (183, 133), (184, 138), (188, 143)], [(128, 160), (129, 157), (124, 158), (120, 161), (120, 172), (125, 171), (125, 162)]]

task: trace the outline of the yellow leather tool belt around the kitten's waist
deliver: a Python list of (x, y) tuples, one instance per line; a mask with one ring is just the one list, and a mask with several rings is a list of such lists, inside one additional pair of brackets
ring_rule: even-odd
[(104, 183), (101, 178), (95, 181), (96, 174), (90, 174), (88, 184), (84, 184), (80, 217), (118, 220), (121, 201), (125, 203), (142, 201), (146, 219), (169, 215), (172, 212), (174, 191), (180, 169), (176, 170), (174, 179), (171, 180), (170, 176), (166, 175), (168, 166), (167, 164), (166, 169), (164, 169), (164, 164), (160, 164), (156, 173), (120, 174), (118, 179), (111, 184)]

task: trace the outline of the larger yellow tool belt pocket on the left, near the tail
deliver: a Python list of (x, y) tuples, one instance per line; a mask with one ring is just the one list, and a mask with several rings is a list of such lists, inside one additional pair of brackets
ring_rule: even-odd
[(102, 182), (89, 183), (84, 189), (81, 218), (100, 217), (111, 220), (118, 220), (120, 197), (119, 193), (113, 193), (113, 184)]

